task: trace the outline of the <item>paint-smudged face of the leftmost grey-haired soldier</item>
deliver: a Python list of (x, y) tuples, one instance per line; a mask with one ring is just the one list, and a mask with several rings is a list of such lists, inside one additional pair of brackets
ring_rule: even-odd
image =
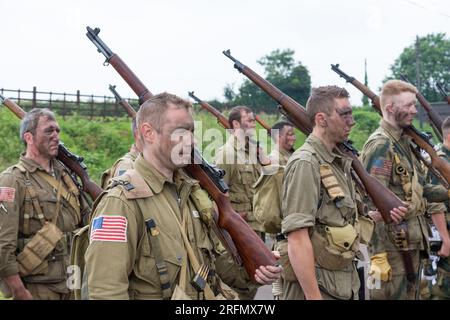
[(59, 132), (59, 125), (56, 121), (40, 117), (36, 133), (32, 135), (32, 142), (27, 142), (27, 146), (37, 151), (39, 156), (53, 159), (58, 155)]

